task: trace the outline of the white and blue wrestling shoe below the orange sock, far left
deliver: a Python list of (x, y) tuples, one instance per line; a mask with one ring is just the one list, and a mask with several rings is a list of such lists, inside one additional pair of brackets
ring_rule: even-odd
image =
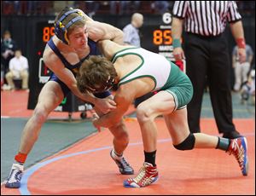
[(13, 164), (12, 169), (9, 173), (9, 177), (5, 184), (5, 187), (19, 188), (23, 170), (24, 170), (24, 165)]

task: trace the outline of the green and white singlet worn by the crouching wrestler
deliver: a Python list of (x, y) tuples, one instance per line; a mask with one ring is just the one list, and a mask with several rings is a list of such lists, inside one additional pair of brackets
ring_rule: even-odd
[(119, 85), (137, 78), (149, 77), (154, 80), (153, 91), (166, 90), (173, 95), (176, 109), (186, 107), (193, 95), (189, 77), (178, 66), (168, 61), (163, 55), (142, 48), (123, 49), (113, 55), (114, 63), (119, 57), (137, 55), (142, 63), (134, 71), (120, 78)]

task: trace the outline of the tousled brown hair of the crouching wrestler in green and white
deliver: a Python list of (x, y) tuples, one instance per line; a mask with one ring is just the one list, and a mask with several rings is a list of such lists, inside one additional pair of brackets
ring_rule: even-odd
[(111, 61), (99, 55), (91, 55), (79, 68), (77, 85), (81, 93), (90, 89), (105, 89), (109, 85), (109, 78), (116, 77), (117, 72)]

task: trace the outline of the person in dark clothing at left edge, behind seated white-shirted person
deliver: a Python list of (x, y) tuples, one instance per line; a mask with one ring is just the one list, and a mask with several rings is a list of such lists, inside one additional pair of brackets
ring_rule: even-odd
[(1, 41), (1, 64), (3, 65), (3, 75), (9, 72), (9, 61), (15, 56), (15, 50), (17, 49), (17, 44), (15, 40), (12, 39), (11, 33), (5, 31), (3, 33), (3, 40)]

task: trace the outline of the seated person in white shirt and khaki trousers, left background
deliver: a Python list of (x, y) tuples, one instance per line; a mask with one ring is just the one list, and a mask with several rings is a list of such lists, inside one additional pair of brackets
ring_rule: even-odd
[(21, 50), (15, 51), (15, 57), (9, 61), (9, 72), (5, 75), (8, 86), (6, 89), (15, 89), (14, 78), (22, 79), (22, 89), (28, 89), (28, 62)]

